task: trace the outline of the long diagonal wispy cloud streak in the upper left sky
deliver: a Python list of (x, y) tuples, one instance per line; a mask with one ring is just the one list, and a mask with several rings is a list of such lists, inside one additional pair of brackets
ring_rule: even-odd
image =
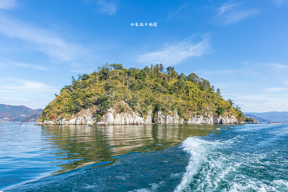
[(11, 39), (20, 39), (29, 50), (43, 52), (51, 59), (71, 61), (83, 56), (85, 48), (66, 42), (51, 28), (26, 24), (0, 16), (0, 34)]

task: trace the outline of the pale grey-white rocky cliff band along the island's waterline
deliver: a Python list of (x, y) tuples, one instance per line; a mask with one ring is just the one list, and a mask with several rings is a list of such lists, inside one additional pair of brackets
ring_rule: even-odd
[[(122, 102), (125, 104), (124, 102)], [(131, 111), (131, 110), (130, 110)], [(137, 112), (117, 113), (113, 108), (107, 110), (107, 114), (97, 122), (96, 117), (91, 114), (89, 109), (81, 110), (77, 115), (70, 119), (59, 116), (51, 121), (39, 122), (39, 125), (149, 125), (155, 124), (237, 124), (238, 121), (234, 116), (217, 116), (213, 113), (205, 113), (200, 116), (190, 116), (189, 119), (180, 118), (177, 111), (170, 111), (169, 114), (157, 112), (157, 116), (152, 119), (152, 112), (149, 111), (146, 117), (142, 117)]]

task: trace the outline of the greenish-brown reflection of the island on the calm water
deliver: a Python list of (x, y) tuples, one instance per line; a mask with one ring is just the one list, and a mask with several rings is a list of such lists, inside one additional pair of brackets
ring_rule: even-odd
[(43, 149), (57, 149), (50, 155), (61, 167), (55, 173), (60, 173), (100, 162), (112, 164), (127, 153), (164, 150), (188, 137), (215, 133), (218, 127), (221, 125), (43, 126), (42, 134), (49, 143)]

